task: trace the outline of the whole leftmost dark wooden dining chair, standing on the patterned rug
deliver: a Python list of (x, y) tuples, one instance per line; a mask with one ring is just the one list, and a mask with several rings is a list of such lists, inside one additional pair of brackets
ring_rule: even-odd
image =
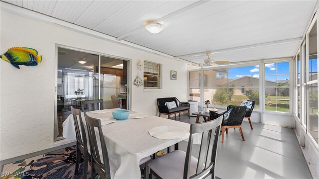
[(76, 134), (76, 160), (75, 160), (74, 174), (76, 175), (79, 171), (81, 154), (83, 154), (83, 157), (84, 157), (83, 179), (86, 179), (88, 174), (89, 152), (88, 152), (88, 144), (86, 140), (84, 124), (82, 121), (80, 109), (74, 109), (73, 106), (71, 106), (71, 111), (73, 115), (75, 134)]

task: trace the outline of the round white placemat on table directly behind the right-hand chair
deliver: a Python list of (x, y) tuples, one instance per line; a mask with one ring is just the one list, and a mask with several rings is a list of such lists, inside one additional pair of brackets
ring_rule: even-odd
[(186, 131), (176, 126), (160, 126), (149, 131), (150, 135), (158, 139), (177, 139), (183, 138)]

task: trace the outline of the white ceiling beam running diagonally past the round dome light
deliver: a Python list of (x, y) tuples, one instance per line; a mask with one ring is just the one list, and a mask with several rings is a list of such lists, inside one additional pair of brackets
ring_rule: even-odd
[[(189, 9), (192, 9), (192, 8), (194, 8), (194, 7), (197, 7), (198, 5), (201, 5), (201, 4), (206, 3), (206, 2), (208, 2), (208, 1), (209, 1), (209, 0), (199, 0), (199, 1), (195, 2), (195, 3), (192, 3), (192, 4), (190, 4), (190, 5), (188, 5), (188, 6), (184, 7), (184, 8), (178, 9), (178, 10), (176, 10), (176, 11), (174, 11), (174, 12), (168, 14), (168, 15), (165, 15), (165, 16), (163, 16), (163, 17), (157, 19), (157, 20), (154, 20), (154, 21), (152, 21), (152, 22), (150, 22), (150, 23), (158, 23), (158, 22), (160, 22), (160, 21), (166, 20), (166, 19), (168, 19), (168, 18), (170, 18), (170, 17), (172, 17), (172, 16), (175, 16), (175, 15), (177, 15), (177, 14), (180, 14), (180, 13), (182, 13), (182, 12), (185, 12), (185, 11), (187, 11), (187, 10), (189, 10)], [(150, 23), (149, 23), (149, 24), (150, 24)], [(132, 30), (132, 31), (130, 31), (130, 32), (128, 32), (128, 33), (126, 33), (126, 34), (120, 35), (119, 37), (116, 38), (116, 40), (121, 41), (121, 40), (127, 38), (129, 35), (132, 35), (134, 32), (136, 32), (137, 30), (139, 30), (139, 29), (141, 29), (141, 28), (145, 28), (145, 26), (144, 26), (144, 25), (143, 25), (143, 26), (140, 26), (140, 27), (138, 27), (138, 28), (136, 28), (136, 29), (134, 29), (134, 30)]]

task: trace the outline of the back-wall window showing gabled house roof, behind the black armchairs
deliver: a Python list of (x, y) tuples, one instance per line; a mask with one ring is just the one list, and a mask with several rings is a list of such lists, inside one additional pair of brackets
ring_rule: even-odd
[(259, 65), (228, 69), (228, 100), (240, 105), (243, 100), (254, 100), (259, 108)]

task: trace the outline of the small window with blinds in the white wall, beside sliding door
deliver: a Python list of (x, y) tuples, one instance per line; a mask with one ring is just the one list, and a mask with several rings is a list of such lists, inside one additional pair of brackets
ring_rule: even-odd
[(144, 88), (160, 88), (160, 64), (144, 61)]

